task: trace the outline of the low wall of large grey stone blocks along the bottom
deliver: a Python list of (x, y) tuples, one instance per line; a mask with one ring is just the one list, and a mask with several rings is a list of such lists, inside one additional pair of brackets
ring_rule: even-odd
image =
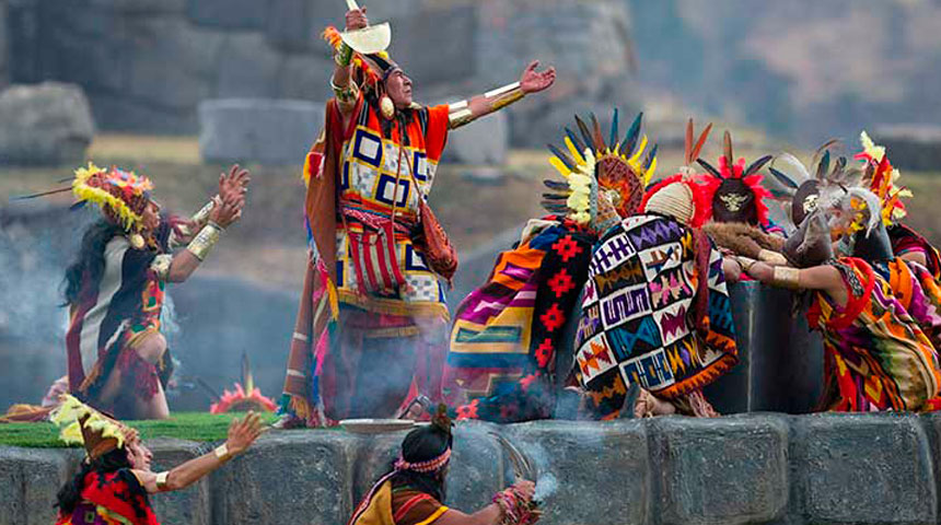
[[(753, 413), (513, 425), (460, 423), (449, 505), (474, 511), (509, 477), (488, 432), (539, 466), (546, 524), (936, 524), (941, 417)], [(153, 503), (165, 524), (341, 525), (404, 433), (282, 431)], [(212, 444), (158, 440), (154, 469)], [(0, 447), (0, 524), (53, 522), (77, 450)]]

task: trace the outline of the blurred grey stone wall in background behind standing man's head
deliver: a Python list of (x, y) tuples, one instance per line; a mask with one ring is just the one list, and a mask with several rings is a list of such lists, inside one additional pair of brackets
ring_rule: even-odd
[[(530, 59), (555, 65), (551, 95), (513, 109), (518, 143), (542, 145), (576, 105), (634, 103), (619, 1), (372, 3), (422, 101), (512, 82)], [(333, 62), (320, 32), (344, 10), (337, 0), (15, 0), (12, 77), (82, 85), (103, 129), (195, 133), (206, 98), (326, 100)]]

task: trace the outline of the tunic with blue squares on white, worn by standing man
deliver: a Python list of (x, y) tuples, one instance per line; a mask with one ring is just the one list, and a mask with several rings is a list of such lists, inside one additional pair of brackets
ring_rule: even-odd
[[(392, 315), (446, 317), (444, 287), (429, 268), (425, 255), (415, 249), (409, 230), (418, 221), (419, 200), (427, 197), (434, 182), (438, 161), (448, 136), (448, 105), (413, 110), (404, 130), (393, 125), (384, 137), (376, 110), (362, 100), (355, 110), (357, 119), (345, 130), (338, 180), (339, 213), (337, 228), (337, 292), (340, 302)], [(400, 151), (399, 151), (400, 150)], [(409, 171), (411, 172), (409, 174)], [(418, 187), (415, 187), (415, 186)], [(396, 219), (392, 252), (370, 252), (369, 246), (351, 245), (347, 229), (358, 238), (363, 231), (375, 232)], [(368, 292), (359, 279), (382, 281), (391, 265), (397, 265), (405, 287), (392, 293)]]

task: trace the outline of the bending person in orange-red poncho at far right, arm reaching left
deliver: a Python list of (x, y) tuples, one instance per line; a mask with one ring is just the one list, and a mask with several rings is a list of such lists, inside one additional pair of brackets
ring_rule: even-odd
[[(938, 354), (918, 320), (903, 304), (918, 288), (910, 272), (886, 280), (859, 257), (837, 257), (833, 240), (859, 246), (887, 242), (879, 199), (860, 189), (834, 185), (785, 245), (797, 268), (743, 259), (753, 278), (777, 287), (808, 290), (808, 322), (821, 331), (825, 352), (822, 408), (835, 411), (936, 408), (941, 385)], [(855, 254), (860, 255), (860, 254)], [(904, 265), (903, 265), (904, 267)], [(903, 282), (902, 279), (905, 279)]]

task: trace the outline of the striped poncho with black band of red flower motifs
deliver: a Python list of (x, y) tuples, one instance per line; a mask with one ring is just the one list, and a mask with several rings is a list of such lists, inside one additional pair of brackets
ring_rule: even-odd
[(594, 236), (568, 220), (550, 217), (547, 224), (501, 253), (487, 282), (454, 315), (445, 384), (469, 397), (457, 407), (460, 419), (553, 416), (556, 352), (588, 279)]

